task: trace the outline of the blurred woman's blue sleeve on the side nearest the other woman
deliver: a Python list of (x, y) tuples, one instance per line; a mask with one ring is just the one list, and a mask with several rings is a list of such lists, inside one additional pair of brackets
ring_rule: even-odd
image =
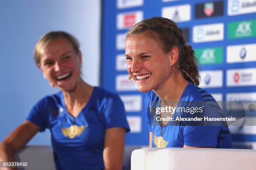
[(122, 100), (117, 94), (112, 94), (105, 103), (105, 123), (106, 128), (122, 127), (126, 132), (130, 132), (130, 128), (126, 119), (125, 108)]

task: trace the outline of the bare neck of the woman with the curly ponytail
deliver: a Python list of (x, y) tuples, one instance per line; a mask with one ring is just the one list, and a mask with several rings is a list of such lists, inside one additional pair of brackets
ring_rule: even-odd
[(182, 73), (175, 70), (164, 85), (153, 91), (163, 101), (179, 101), (188, 84)]

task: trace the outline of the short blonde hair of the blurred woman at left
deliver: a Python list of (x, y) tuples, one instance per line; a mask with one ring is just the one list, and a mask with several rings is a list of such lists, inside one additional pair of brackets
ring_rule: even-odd
[(36, 43), (36, 47), (34, 50), (34, 59), (35, 59), (36, 65), (40, 63), (40, 55), (42, 50), (44, 50), (45, 47), (51, 41), (56, 40), (57, 38), (65, 38), (66, 40), (68, 40), (73, 46), (75, 52), (77, 54), (79, 53), (79, 42), (73, 35), (64, 31), (51, 31), (43, 35), (40, 38), (40, 40), (38, 40), (38, 42)]

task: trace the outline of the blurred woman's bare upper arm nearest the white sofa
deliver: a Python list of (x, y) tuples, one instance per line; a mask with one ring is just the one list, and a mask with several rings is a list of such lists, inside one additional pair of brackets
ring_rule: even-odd
[(105, 134), (103, 160), (105, 170), (121, 170), (125, 143), (125, 128), (109, 128)]

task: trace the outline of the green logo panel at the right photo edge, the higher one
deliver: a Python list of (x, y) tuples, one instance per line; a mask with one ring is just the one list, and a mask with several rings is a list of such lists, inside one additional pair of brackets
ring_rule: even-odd
[(256, 36), (256, 20), (228, 23), (228, 39)]

